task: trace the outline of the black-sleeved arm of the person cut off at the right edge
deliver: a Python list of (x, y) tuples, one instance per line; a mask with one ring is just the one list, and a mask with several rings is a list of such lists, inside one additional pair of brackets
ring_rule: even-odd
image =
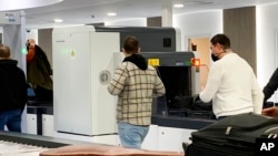
[(265, 94), (264, 102), (270, 98), (277, 89), (278, 89), (278, 67), (272, 73), (267, 85), (264, 87), (264, 94)]

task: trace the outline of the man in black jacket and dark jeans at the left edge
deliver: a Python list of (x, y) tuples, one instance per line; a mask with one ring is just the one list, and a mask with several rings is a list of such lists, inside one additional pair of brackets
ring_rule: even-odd
[(21, 114), (27, 103), (24, 72), (11, 59), (10, 49), (0, 44), (0, 131), (21, 132)]

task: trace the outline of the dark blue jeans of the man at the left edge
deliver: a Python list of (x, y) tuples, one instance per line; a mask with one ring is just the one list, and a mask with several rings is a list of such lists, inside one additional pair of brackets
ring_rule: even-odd
[(21, 110), (0, 112), (0, 131), (21, 132)]

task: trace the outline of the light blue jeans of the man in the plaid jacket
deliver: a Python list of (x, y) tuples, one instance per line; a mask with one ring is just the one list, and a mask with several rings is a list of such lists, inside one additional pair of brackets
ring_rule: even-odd
[(118, 123), (121, 146), (141, 148), (141, 144), (149, 132), (149, 126), (137, 126), (125, 122)]

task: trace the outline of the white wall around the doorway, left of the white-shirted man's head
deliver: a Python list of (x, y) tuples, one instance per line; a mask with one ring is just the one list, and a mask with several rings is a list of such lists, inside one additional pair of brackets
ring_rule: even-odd
[(222, 33), (222, 10), (176, 14), (172, 20), (172, 25), (181, 31), (181, 51), (188, 50), (189, 38)]

